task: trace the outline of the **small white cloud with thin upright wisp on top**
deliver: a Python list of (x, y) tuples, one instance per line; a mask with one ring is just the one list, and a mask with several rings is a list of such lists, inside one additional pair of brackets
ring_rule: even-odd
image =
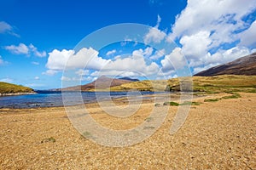
[(158, 15), (156, 26), (150, 28), (148, 33), (145, 35), (143, 39), (145, 43), (150, 43), (150, 42), (160, 43), (163, 39), (165, 39), (166, 32), (160, 31), (158, 29), (160, 25), (160, 21), (161, 21), (161, 18), (160, 18), (160, 15)]

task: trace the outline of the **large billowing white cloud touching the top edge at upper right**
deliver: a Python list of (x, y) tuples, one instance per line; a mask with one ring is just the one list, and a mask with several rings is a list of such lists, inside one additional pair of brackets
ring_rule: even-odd
[[(232, 42), (233, 31), (247, 26), (242, 19), (256, 7), (255, 0), (189, 0), (187, 7), (177, 15), (172, 26), (172, 39), (193, 35), (198, 31), (212, 32), (212, 41)], [(215, 44), (215, 45), (217, 45)]]

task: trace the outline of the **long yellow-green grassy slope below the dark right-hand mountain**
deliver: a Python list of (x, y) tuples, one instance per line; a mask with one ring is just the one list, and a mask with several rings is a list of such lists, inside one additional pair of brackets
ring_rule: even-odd
[[(192, 82), (192, 84), (191, 84)], [(256, 76), (222, 75), (214, 77), (180, 77), (165, 80), (129, 82), (112, 87), (112, 91), (192, 91), (195, 93), (218, 94), (231, 92), (256, 93)], [(193, 89), (192, 89), (192, 88)]]

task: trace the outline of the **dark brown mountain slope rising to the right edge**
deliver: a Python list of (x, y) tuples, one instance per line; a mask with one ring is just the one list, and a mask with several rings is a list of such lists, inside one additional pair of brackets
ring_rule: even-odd
[(241, 57), (224, 65), (217, 65), (194, 76), (212, 77), (218, 75), (256, 75), (256, 53)]

